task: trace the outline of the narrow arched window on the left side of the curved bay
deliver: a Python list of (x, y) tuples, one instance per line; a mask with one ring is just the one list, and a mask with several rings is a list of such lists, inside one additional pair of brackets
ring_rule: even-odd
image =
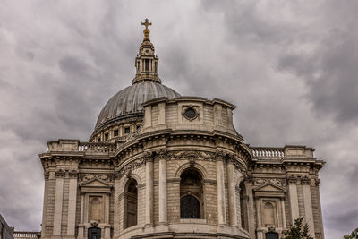
[(124, 192), (124, 228), (137, 225), (138, 191), (137, 181), (130, 179)]

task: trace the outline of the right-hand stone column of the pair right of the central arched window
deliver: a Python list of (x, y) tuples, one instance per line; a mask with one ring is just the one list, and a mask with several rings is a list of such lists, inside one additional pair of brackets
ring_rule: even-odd
[[(235, 177), (234, 177), (234, 158), (230, 157), (227, 160), (227, 194), (229, 202), (229, 220), (230, 226), (237, 226), (237, 205), (236, 205), (236, 191), (235, 191)], [(240, 208), (240, 205), (239, 205)]]

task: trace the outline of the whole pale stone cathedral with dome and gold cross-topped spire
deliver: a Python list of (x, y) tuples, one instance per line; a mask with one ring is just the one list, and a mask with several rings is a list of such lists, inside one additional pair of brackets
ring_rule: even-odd
[(319, 171), (306, 146), (257, 147), (235, 106), (162, 84), (148, 19), (132, 85), (89, 141), (47, 142), (41, 238), (283, 238), (303, 217), (323, 239)]

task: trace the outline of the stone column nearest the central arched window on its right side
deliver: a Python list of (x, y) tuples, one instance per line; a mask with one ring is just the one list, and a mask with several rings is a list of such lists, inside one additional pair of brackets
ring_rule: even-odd
[(224, 153), (217, 151), (217, 222), (219, 226), (226, 226), (224, 159)]

